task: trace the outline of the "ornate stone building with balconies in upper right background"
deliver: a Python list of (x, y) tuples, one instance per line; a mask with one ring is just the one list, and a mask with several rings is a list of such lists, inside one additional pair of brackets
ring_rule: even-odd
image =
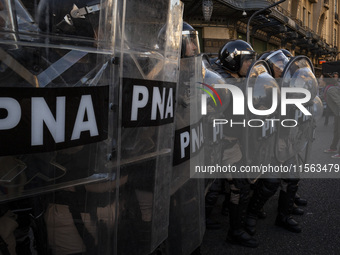
[[(307, 55), (320, 70), (339, 53), (339, 0), (182, 0), (184, 20), (200, 32), (202, 52), (217, 54), (230, 39), (247, 40), (261, 53), (286, 48)], [(250, 17), (257, 11), (281, 2)]]

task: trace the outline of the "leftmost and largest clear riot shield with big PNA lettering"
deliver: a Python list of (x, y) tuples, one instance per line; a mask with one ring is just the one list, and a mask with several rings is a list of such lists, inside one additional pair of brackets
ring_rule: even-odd
[(115, 9), (100, 0), (1, 0), (0, 9), (0, 207), (30, 239), (11, 248), (109, 254)]

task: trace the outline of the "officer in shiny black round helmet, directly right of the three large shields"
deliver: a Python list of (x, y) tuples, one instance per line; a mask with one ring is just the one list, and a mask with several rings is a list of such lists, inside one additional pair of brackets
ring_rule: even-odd
[[(248, 69), (254, 62), (256, 53), (245, 41), (232, 40), (227, 42), (219, 51), (219, 57), (215, 62), (216, 71), (220, 73), (228, 83), (241, 86), (242, 78), (247, 75)], [(232, 115), (232, 107), (224, 112), (225, 117)], [(234, 116), (235, 117), (235, 116)], [(223, 164), (241, 167), (244, 164), (241, 143), (242, 132), (240, 128), (223, 128), (224, 150)], [(240, 176), (238, 176), (240, 177)], [(246, 216), (246, 208), (249, 201), (250, 182), (243, 178), (228, 178), (230, 185), (229, 200), (229, 224), (230, 228), (227, 241), (247, 247), (257, 247), (258, 241), (250, 236), (244, 229), (243, 221)]]

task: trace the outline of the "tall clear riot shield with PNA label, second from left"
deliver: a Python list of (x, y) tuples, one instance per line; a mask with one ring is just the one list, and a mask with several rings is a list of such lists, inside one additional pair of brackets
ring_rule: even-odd
[(149, 254), (168, 236), (180, 1), (119, 1), (116, 73), (121, 123), (118, 254)]

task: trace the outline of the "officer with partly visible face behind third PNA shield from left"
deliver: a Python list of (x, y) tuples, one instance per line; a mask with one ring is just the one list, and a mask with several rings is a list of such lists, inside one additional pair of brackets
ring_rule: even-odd
[[(196, 108), (198, 93), (195, 90), (202, 76), (202, 62), (198, 41), (198, 31), (187, 22), (182, 25), (182, 46), (179, 75), (178, 103), (175, 113), (175, 143), (172, 177), (170, 183), (170, 215), (166, 254), (200, 254), (200, 245), (204, 235), (204, 179), (190, 178), (190, 164), (203, 159), (201, 154), (179, 156), (182, 150), (180, 134), (183, 129), (190, 130), (201, 123), (200, 112)], [(196, 75), (197, 74), (197, 75)], [(197, 79), (197, 80), (196, 80)], [(191, 132), (191, 131), (190, 131)]]

